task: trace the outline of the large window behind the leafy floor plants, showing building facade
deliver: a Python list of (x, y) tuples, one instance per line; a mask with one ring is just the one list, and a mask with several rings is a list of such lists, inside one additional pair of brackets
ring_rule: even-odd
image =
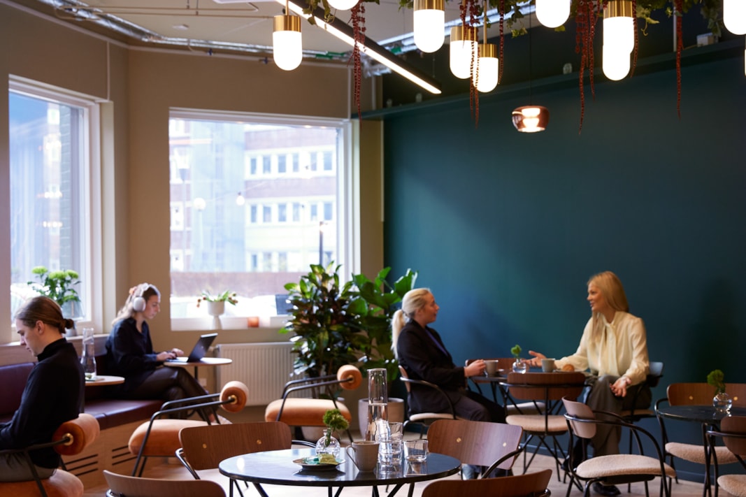
[[(239, 304), (226, 312), (256, 316), (266, 308), (260, 302), (286, 293), (284, 285), (318, 264), (319, 254), (345, 266), (353, 260), (342, 242), (351, 232), (351, 188), (339, 162), (347, 122), (172, 110), (171, 123), (169, 129), (188, 130), (170, 137), (170, 166), (184, 166), (184, 175), (170, 176), (172, 184), (182, 177), (185, 183), (170, 190), (172, 205), (185, 206), (181, 214), (172, 210), (172, 218), (183, 216), (171, 223), (172, 254), (183, 254), (172, 257), (172, 319), (207, 316), (195, 305), (202, 290), (233, 290)], [(195, 210), (195, 202), (204, 207)], [(175, 324), (192, 329), (188, 321)]]

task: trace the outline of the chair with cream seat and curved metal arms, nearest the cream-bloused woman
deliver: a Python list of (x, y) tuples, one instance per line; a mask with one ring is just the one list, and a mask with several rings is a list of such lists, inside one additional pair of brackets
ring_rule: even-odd
[[(660, 478), (660, 495), (671, 497), (671, 485), (667, 484), (667, 481), (676, 472), (665, 463), (660, 446), (649, 431), (624, 421), (621, 416), (614, 413), (594, 411), (583, 402), (568, 397), (563, 398), (562, 403), (565, 405), (564, 417), (570, 433), (570, 448), (574, 446), (575, 437), (590, 440), (596, 434), (597, 425), (616, 425), (633, 431), (639, 451), (639, 454), (610, 454), (586, 459), (586, 445), (583, 444), (583, 462), (577, 466), (574, 463), (568, 465), (568, 496), (574, 484), (584, 483), (583, 496), (588, 497), (591, 484), (596, 482), (602, 485), (616, 485), (642, 481), (645, 483), (645, 495), (650, 497), (648, 481)], [(596, 417), (599, 413), (603, 416)], [(643, 452), (643, 437), (655, 448), (656, 453), (652, 456), (646, 456)]]

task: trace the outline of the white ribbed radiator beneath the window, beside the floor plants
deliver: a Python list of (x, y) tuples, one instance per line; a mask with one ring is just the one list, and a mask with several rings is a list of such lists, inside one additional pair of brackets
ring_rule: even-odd
[(246, 405), (266, 405), (282, 396), (286, 381), (291, 379), (292, 343), (221, 343), (216, 347), (217, 357), (233, 362), (216, 368), (218, 386), (228, 381), (242, 381), (248, 387)]

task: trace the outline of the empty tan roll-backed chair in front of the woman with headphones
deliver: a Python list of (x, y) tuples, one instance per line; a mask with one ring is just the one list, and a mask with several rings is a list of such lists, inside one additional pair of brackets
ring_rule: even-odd
[(229, 413), (236, 413), (246, 405), (247, 398), (248, 388), (245, 384), (240, 381), (229, 381), (220, 393), (183, 398), (163, 404), (161, 409), (151, 416), (150, 421), (142, 423), (130, 436), (128, 448), (131, 454), (137, 454), (132, 475), (142, 475), (148, 457), (175, 457), (177, 449), (181, 448), (181, 442), (179, 442), (181, 428), (208, 424), (195, 419), (169, 419), (165, 416), (218, 406)]

